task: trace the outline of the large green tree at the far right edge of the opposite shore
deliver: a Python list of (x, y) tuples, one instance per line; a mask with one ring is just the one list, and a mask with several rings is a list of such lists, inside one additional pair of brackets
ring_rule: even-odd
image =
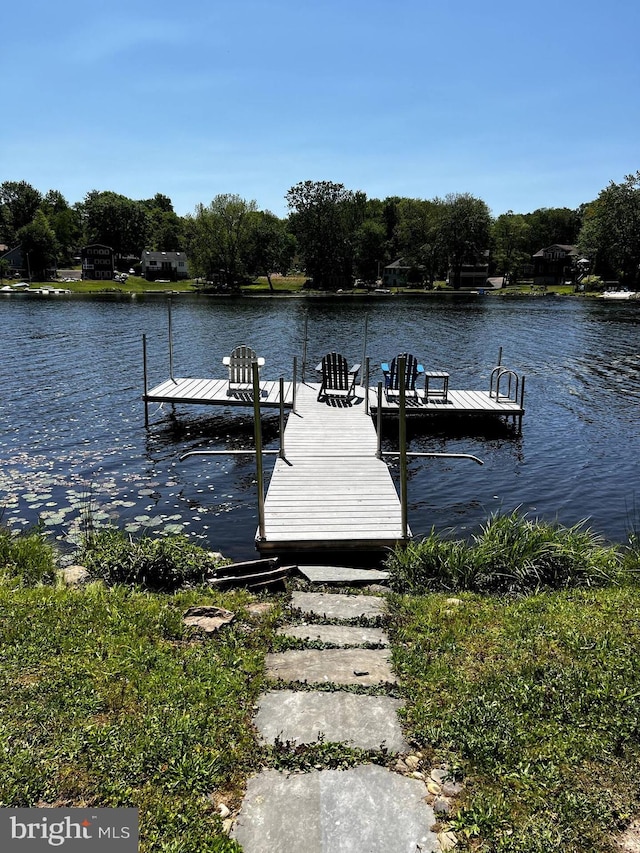
[(640, 271), (640, 171), (611, 181), (588, 205), (579, 251), (596, 260), (596, 271), (613, 272), (632, 288)]

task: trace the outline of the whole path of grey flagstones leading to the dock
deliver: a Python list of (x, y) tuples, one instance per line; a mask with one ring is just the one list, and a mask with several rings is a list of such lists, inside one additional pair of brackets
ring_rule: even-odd
[[(317, 582), (329, 582), (327, 573), (315, 572), (319, 568), (310, 574), (321, 578)], [(342, 571), (335, 570), (336, 576)], [(279, 629), (281, 635), (338, 648), (267, 655), (267, 676), (319, 688), (397, 684), (388, 638), (377, 627), (386, 617), (385, 605), (384, 598), (373, 595), (294, 592), (291, 608), (305, 619), (347, 624)], [(374, 644), (383, 648), (363, 648)], [(278, 741), (292, 749), (322, 740), (404, 755), (409, 746), (398, 719), (401, 706), (390, 696), (346, 690), (271, 690), (259, 700), (255, 724), (266, 743)], [(248, 782), (232, 837), (245, 853), (436, 853), (442, 847), (431, 830), (436, 818), (426, 797), (423, 778), (376, 764), (308, 773), (265, 768)]]

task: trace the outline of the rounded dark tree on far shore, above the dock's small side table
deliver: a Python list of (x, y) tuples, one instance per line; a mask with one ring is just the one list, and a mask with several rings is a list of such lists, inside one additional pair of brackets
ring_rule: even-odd
[(489, 248), (491, 214), (482, 199), (470, 193), (450, 193), (443, 202), (441, 235), (453, 273), (453, 286), (460, 287), (464, 264), (478, 261)]

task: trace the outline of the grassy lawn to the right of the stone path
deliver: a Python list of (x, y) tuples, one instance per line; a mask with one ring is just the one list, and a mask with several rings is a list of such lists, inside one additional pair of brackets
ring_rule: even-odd
[(458, 849), (613, 850), (640, 802), (640, 590), (392, 602), (408, 733), (466, 779)]

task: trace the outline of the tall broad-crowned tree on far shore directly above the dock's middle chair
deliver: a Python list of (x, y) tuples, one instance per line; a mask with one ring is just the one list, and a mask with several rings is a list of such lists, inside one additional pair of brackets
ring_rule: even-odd
[(320, 289), (351, 284), (355, 209), (361, 206), (343, 184), (301, 181), (286, 194), (289, 227), (298, 241), (307, 275)]

